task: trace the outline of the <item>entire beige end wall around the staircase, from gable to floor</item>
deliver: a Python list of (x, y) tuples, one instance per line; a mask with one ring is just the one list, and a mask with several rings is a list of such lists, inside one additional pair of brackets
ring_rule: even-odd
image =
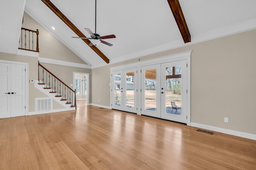
[[(86, 64), (82, 59), (80, 59), (76, 54), (74, 54), (70, 49), (68, 49), (63, 43), (51, 35), (46, 29), (44, 29), (39, 23), (32, 19), (26, 12), (24, 12), (24, 22), (22, 27), (27, 29), (36, 30), (39, 29), (39, 57), (54, 59), (60, 61), (68, 61), (72, 63)], [(19, 61), (29, 64), (29, 80), (38, 80), (38, 58), (28, 57), (22, 55), (14, 55), (8, 53), (0, 52), (1, 60), (8, 61)], [(54, 75), (58, 76), (63, 82), (70, 86), (73, 84), (73, 72), (83, 72), (90, 73), (90, 69), (77, 68), (70, 66), (59, 66), (54, 64), (44, 64), (48, 70), (50, 70)], [(38, 91), (34, 87), (34, 83), (28, 83), (29, 88), (29, 112), (34, 111), (34, 99), (47, 97), (42, 92)], [(90, 87), (90, 85), (89, 85)], [(89, 99), (90, 101), (90, 99)], [(57, 102), (53, 101), (53, 109), (64, 108)]]

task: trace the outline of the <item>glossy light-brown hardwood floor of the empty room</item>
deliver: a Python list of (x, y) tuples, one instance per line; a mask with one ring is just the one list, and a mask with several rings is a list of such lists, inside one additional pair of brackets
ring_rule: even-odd
[(256, 141), (122, 111), (0, 119), (0, 170), (256, 170)]

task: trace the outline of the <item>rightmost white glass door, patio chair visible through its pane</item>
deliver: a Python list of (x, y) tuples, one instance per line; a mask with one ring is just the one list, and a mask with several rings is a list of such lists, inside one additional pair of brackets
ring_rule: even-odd
[(161, 118), (187, 123), (187, 61), (161, 64)]

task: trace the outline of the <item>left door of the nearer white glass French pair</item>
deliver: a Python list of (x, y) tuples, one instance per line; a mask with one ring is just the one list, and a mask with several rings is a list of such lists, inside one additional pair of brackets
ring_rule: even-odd
[(161, 117), (160, 64), (141, 67), (141, 114)]

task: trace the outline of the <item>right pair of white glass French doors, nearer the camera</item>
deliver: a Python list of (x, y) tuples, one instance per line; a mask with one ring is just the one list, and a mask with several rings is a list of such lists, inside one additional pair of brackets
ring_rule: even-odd
[(187, 123), (186, 60), (143, 66), (141, 114)]

